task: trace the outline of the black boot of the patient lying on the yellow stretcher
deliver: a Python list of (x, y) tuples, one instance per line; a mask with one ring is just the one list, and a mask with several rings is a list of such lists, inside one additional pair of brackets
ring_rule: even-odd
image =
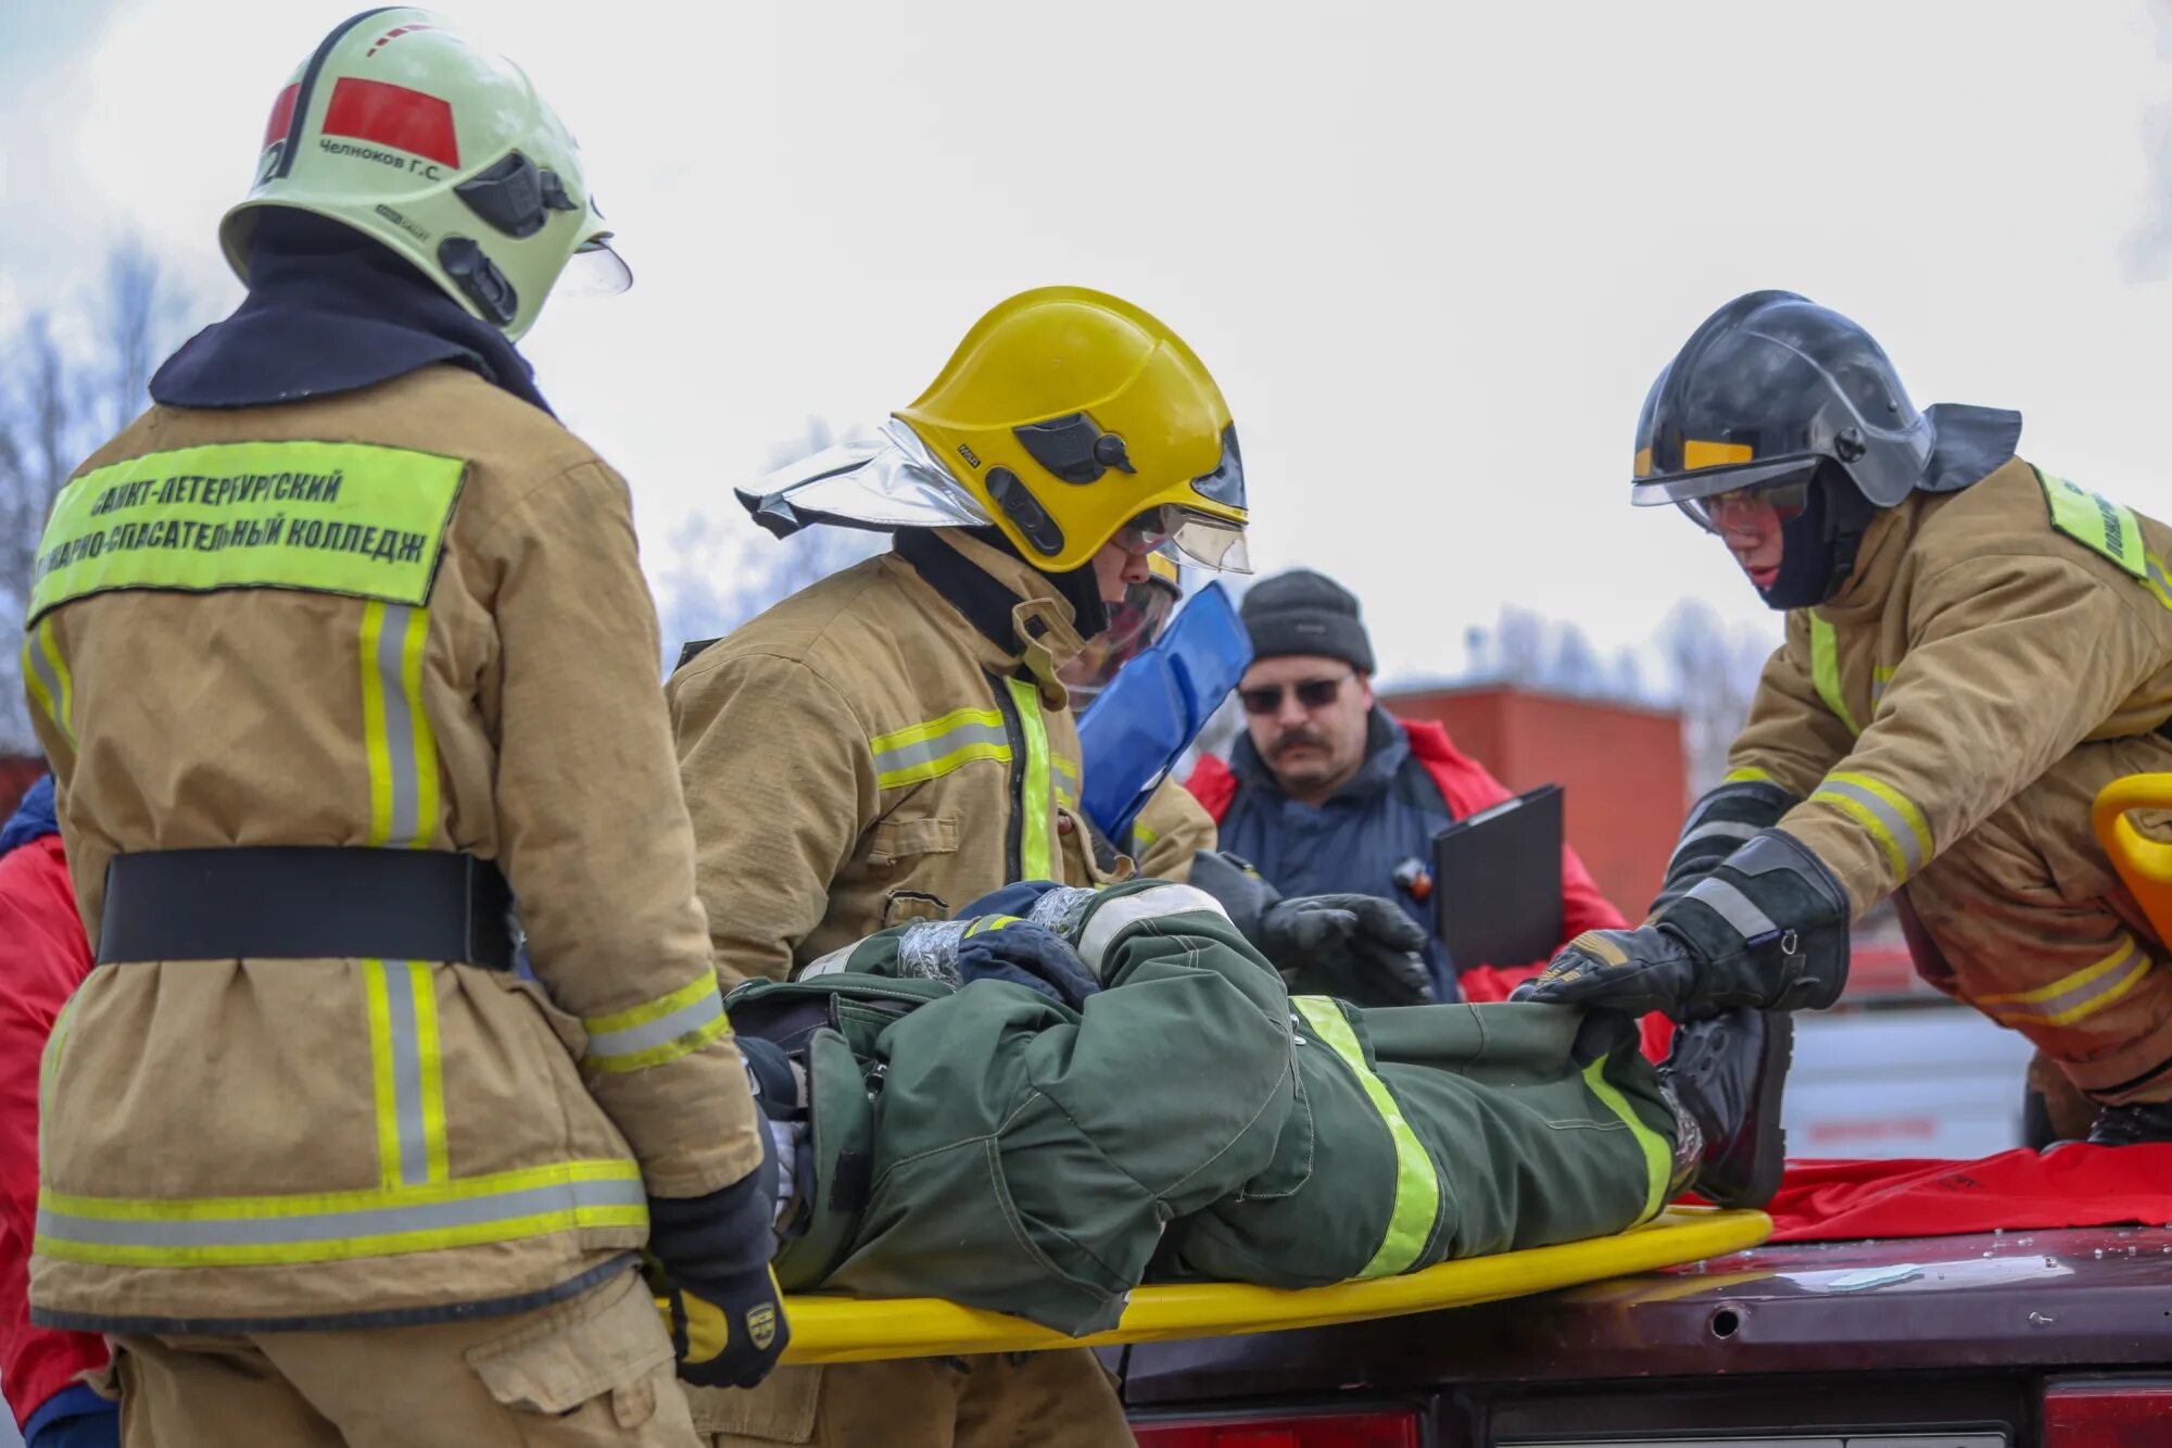
[(1779, 1104), (1792, 1059), (1794, 1018), (1785, 1011), (1735, 1007), (1675, 1031), (1659, 1076), (1701, 1137), (1688, 1185), (1707, 1202), (1764, 1207), (1779, 1191), (1788, 1159)]

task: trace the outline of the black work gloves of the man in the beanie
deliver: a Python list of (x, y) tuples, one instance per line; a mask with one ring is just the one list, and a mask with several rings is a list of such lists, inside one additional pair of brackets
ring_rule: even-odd
[(1403, 907), (1379, 896), (1297, 896), (1260, 878), (1236, 854), (1199, 850), (1190, 883), (1214, 896), (1229, 924), (1266, 963), (1295, 978), (1349, 981), (1344, 994), (1384, 1004), (1423, 1004), (1434, 998), (1434, 976), (1416, 954), (1425, 928)]

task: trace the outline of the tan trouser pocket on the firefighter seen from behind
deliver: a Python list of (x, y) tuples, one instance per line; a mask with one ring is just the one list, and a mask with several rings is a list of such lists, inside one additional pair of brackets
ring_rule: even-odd
[(469, 1348), (467, 1365), (515, 1413), (595, 1418), (599, 1444), (619, 1441), (615, 1431), (641, 1428), (658, 1407), (686, 1411), (671, 1383), (671, 1335), (634, 1272)]

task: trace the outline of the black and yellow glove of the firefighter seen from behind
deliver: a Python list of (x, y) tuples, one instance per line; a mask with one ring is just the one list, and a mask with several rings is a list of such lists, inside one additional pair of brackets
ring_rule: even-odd
[(778, 1159), (762, 1131), (762, 1163), (730, 1187), (649, 1198), (643, 1274), (671, 1328), (678, 1374), (697, 1387), (754, 1387), (793, 1337), (769, 1270)]

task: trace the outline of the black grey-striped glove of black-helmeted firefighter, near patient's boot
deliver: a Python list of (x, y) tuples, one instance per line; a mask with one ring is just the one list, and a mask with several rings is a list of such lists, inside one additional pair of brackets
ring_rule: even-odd
[(1586, 931), (1512, 1000), (1675, 1020), (1727, 1007), (1818, 1011), (1848, 981), (1848, 894), (1783, 831), (1748, 844), (1636, 931)]

